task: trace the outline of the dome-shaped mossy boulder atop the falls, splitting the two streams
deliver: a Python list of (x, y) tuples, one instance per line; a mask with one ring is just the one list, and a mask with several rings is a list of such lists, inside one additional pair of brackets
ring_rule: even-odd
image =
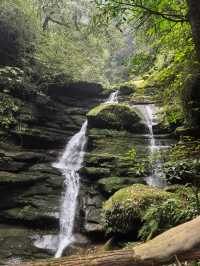
[(90, 128), (127, 130), (133, 133), (148, 132), (134, 108), (124, 104), (101, 104), (88, 114)]

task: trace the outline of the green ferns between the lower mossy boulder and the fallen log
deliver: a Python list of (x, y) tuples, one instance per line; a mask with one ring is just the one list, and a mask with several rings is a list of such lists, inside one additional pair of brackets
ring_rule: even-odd
[(149, 240), (163, 231), (198, 216), (197, 202), (192, 189), (180, 187), (174, 196), (161, 202), (160, 205), (152, 205), (147, 209), (139, 237)]

